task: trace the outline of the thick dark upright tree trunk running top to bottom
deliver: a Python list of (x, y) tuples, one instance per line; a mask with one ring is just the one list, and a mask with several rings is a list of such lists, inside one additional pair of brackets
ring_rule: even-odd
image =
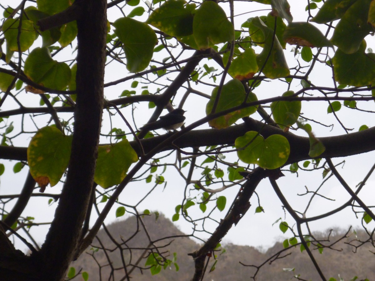
[[(40, 279), (60, 281), (74, 258), (92, 192), (104, 104), (106, 1), (80, 3), (77, 19), (77, 103), (71, 159), (55, 218), (40, 253)], [(51, 255), (51, 253), (58, 253)]]

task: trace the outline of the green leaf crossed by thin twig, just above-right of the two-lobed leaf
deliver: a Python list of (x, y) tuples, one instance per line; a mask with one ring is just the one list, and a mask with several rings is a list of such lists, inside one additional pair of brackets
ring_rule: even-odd
[[(293, 91), (286, 91), (283, 97), (293, 96)], [(280, 101), (271, 103), (272, 116), (281, 129), (292, 126), (297, 122), (301, 113), (301, 102)]]

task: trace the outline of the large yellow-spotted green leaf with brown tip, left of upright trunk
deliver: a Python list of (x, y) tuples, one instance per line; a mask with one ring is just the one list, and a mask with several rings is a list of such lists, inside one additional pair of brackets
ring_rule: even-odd
[(31, 176), (42, 187), (56, 185), (69, 164), (73, 136), (65, 136), (56, 127), (37, 131), (27, 148)]

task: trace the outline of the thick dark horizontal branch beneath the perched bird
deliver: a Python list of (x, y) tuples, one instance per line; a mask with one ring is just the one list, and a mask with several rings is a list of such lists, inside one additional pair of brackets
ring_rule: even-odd
[[(246, 123), (230, 126), (226, 129), (193, 130), (184, 133), (183, 138), (178, 138), (174, 141), (175, 146), (166, 146), (162, 151), (175, 149), (176, 146), (180, 149), (184, 149), (188, 147), (207, 145), (233, 144), (236, 138), (245, 135), (246, 132), (251, 130), (261, 132), (261, 135), (264, 138), (268, 138), (274, 134), (285, 136), (285, 138), (288, 139), (291, 148), (287, 164), (311, 159), (309, 156), (310, 142), (308, 137), (297, 136), (291, 132), (285, 133), (281, 129), (270, 125), (264, 125), (264, 123), (251, 118), (246, 119)], [(142, 139), (141, 143), (145, 153), (151, 151), (169, 136), (171, 136), (171, 133), (166, 133), (165, 135), (156, 136), (154, 138)], [(318, 138), (323, 145), (326, 146), (326, 151), (319, 155), (319, 158), (345, 157), (373, 151), (375, 150), (375, 142), (372, 141), (374, 138), (375, 127), (361, 132)], [(138, 154), (140, 153), (135, 141), (131, 141), (130, 145), (132, 145), (133, 149), (135, 149)], [(0, 146), (0, 159), (25, 161), (27, 159), (26, 151), (27, 148)]]

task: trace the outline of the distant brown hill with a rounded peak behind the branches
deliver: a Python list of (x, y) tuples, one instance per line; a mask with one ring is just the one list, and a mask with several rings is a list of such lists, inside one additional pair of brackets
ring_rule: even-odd
[[(154, 241), (158, 238), (166, 236), (182, 236), (184, 233), (180, 232), (170, 220), (165, 218), (163, 215), (155, 221), (154, 216), (145, 216), (142, 218), (143, 223), (149, 231), (151, 239)], [(148, 239), (142, 227), (136, 224), (135, 217), (130, 217), (126, 220), (113, 223), (107, 227), (108, 232), (113, 239), (117, 241), (118, 244), (122, 243), (123, 249), (126, 247), (133, 248), (131, 250), (131, 262), (136, 263), (144, 250), (139, 249), (148, 245)], [(130, 241), (127, 239), (131, 238)], [(342, 233), (337, 231), (333, 233), (334, 236), (330, 237), (330, 241), (335, 241), (342, 236)], [(317, 235), (319, 236), (319, 235)], [(111, 241), (108, 235), (103, 229), (98, 233), (99, 240), (95, 240), (93, 245), (101, 247), (104, 245), (105, 248), (113, 250), (116, 248), (115, 244)], [(323, 235), (320, 235), (323, 238)], [(121, 240), (122, 239), (122, 240)], [(333, 246), (336, 250), (324, 249), (323, 254), (319, 254), (317, 250), (313, 251), (318, 264), (320, 265), (323, 273), (329, 279), (334, 277), (339, 280), (338, 274), (344, 280), (351, 280), (354, 276), (358, 276), (357, 280), (364, 280), (368, 278), (370, 281), (375, 280), (375, 249), (371, 244), (363, 245), (357, 249), (357, 253), (353, 253), (354, 248), (348, 244), (345, 244), (354, 238), (346, 238), (339, 241)], [(123, 242), (124, 241), (124, 242)], [(170, 244), (169, 244), (170, 243)], [(326, 242), (328, 244), (328, 242)], [(165, 252), (165, 256), (168, 255), (168, 259), (172, 260), (173, 253), (177, 253), (177, 264), (179, 266), (179, 271), (176, 272), (174, 266), (171, 269), (167, 268), (154, 276), (151, 276), (150, 270), (141, 270), (136, 268), (131, 272), (130, 280), (133, 281), (166, 281), (166, 280), (190, 280), (194, 271), (193, 259), (187, 256), (195, 250), (198, 250), (199, 245), (193, 240), (186, 237), (178, 237), (174, 239), (164, 239), (156, 243), (157, 246), (165, 245), (162, 251)], [(90, 251), (91, 247), (87, 249), (87, 253), (93, 253)], [(134, 249), (138, 248), (138, 249)], [(214, 259), (211, 258), (210, 264), (208, 265), (208, 270), (205, 273), (205, 281), (243, 281), (251, 280), (256, 269), (254, 267), (243, 266), (239, 262), (246, 265), (260, 265), (272, 256), (272, 254), (277, 253), (282, 249), (282, 243), (276, 243), (272, 248), (269, 248), (266, 253), (261, 253), (254, 247), (249, 246), (237, 246), (233, 244), (223, 245), (226, 252), (220, 254), (217, 252), (217, 263), (215, 270), (209, 272), (209, 269), (214, 263)], [(311, 246), (312, 248), (312, 246)], [(290, 254), (288, 254), (290, 253)], [(122, 268), (121, 256), (119, 250), (113, 252), (99, 250), (94, 254), (94, 258), (90, 254), (83, 254), (81, 257), (72, 263), (75, 267), (76, 272), (81, 268), (82, 271), (89, 273), (89, 281), (99, 281), (99, 280), (113, 280), (110, 278), (111, 268), (108, 265), (106, 254), (112, 260), (112, 266), (115, 270), (114, 280), (121, 280), (124, 276), (124, 270)], [(288, 255), (287, 255), (288, 254)], [(129, 251), (123, 251), (124, 260), (129, 263), (130, 253)], [(288, 252), (284, 252), (281, 256), (286, 257), (282, 259), (274, 260), (272, 263), (267, 262), (258, 272), (256, 280), (267, 280), (267, 281), (286, 281), (294, 279), (294, 275), (300, 275), (302, 280), (321, 280), (311, 260), (309, 259), (306, 251), (301, 253), (300, 247), (292, 248)], [(100, 272), (99, 266), (102, 265)], [(145, 259), (139, 262), (139, 266), (144, 267)], [(104, 266), (107, 265), (107, 266)], [(287, 271), (283, 269), (295, 268), (294, 271)], [(102, 279), (100, 279), (100, 275)], [(79, 277), (81, 278), (81, 277)], [(78, 280), (80, 280), (78, 278)], [(76, 279), (77, 280), (77, 279)], [(295, 279), (296, 280), (296, 279)]]

